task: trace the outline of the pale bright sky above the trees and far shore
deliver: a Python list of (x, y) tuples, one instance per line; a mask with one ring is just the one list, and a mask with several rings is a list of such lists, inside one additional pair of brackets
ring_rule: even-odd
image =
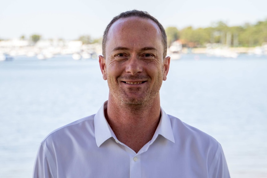
[(266, 0), (0, 0), (0, 39), (39, 34), (43, 39), (102, 37), (121, 12), (147, 11), (167, 28), (229, 26), (267, 19)]

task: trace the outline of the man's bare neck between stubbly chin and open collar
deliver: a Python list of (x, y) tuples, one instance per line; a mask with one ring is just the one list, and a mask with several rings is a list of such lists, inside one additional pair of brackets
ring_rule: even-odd
[(160, 99), (143, 105), (118, 104), (109, 97), (105, 117), (117, 139), (136, 153), (149, 142), (160, 121)]

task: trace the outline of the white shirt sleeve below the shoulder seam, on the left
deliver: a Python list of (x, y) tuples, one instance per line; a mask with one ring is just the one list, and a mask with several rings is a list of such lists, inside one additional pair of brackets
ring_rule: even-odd
[(33, 167), (33, 178), (57, 178), (55, 165), (50, 152), (41, 144)]

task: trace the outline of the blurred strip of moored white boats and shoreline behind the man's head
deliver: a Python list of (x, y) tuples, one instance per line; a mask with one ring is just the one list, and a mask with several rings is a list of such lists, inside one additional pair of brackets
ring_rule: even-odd
[[(267, 55), (267, 44), (256, 47), (229, 47), (230, 45), (207, 44), (205, 48), (182, 47), (181, 41), (174, 41), (167, 54), (171, 59), (181, 58), (181, 54), (207, 54), (208, 56), (237, 58), (239, 54)], [(36, 43), (28, 40), (0, 41), (0, 61), (12, 60), (15, 56), (36, 57), (39, 60), (50, 59), (55, 55), (72, 55), (72, 59), (97, 59), (102, 54), (100, 43), (83, 44), (82, 41), (65, 41), (59, 39), (39, 40)]]

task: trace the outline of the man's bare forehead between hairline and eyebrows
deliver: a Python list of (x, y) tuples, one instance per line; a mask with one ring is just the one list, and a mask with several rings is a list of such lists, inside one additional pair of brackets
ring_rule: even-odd
[(120, 18), (110, 27), (107, 35), (107, 48), (122, 43), (143, 45), (162, 45), (161, 31), (150, 19), (140, 17)]

